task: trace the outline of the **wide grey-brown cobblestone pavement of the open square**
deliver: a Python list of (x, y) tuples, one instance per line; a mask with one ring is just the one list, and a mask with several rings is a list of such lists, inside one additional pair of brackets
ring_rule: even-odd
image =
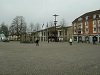
[(0, 75), (100, 75), (100, 44), (0, 42)]

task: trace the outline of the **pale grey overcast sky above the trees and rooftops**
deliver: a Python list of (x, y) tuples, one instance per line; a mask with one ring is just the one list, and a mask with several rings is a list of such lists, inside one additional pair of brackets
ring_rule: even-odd
[(16, 16), (23, 16), (26, 23), (58, 23), (65, 19), (68, 25), (82, 14), (100, 9), (100, 0), (0, 0), (0, 24), (11, 25)]

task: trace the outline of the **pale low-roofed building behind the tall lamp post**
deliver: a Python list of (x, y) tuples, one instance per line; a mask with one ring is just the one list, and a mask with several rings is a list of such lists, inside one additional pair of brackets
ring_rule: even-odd
[(35, 33), (35, 38), (40, 41), (54, 41), (55, 37), (57, 41), (68, 41), (69, 37), (72, 37), (72, 26), (62, 27), (61, 25), (56, 26), (56, 36), (55, 36), (55, 26), (48, 27), (46, 29), (37, 31)]

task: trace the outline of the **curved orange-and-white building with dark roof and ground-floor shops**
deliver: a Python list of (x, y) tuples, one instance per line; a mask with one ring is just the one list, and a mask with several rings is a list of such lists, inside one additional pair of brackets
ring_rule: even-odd
[(100, 42), (100, 10), (87, 12), (72, 22), (73, 40), (78, 42)]

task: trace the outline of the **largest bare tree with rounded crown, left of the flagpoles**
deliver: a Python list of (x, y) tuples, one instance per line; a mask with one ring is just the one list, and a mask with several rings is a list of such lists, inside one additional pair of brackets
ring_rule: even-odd
[[(26, 22), (23, 16), (16, 16), (13, 21), (12, 24), (10, 26), (10, 33), (11, 34), (15, 34), (17, 36), (21, 36), (21, 34), (25, 34), (26, 33)], [(18, 38), (17, 38), (18, 40)]]

